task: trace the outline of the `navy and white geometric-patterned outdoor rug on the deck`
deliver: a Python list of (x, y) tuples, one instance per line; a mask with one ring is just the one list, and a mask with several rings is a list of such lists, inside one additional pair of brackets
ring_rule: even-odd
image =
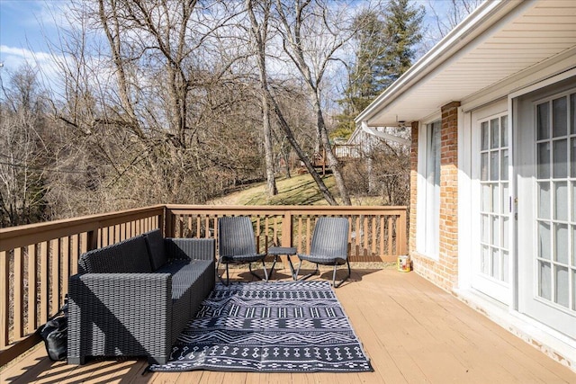
[(217, 283), (149, 371), (373, 371), (329, 281)]

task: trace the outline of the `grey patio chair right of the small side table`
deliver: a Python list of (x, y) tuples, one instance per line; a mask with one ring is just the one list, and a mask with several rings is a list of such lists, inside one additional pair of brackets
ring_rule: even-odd
[[(338, 288), (350, 277), (350, 262), (348, 261), (348, 228), (349, 223), (345, 218), (319, 218), (312, 234), (310, 255), (298, 254), (300, 264), (294, 275), (295, 280), (305, 280), (319, 273), (319, 264), (334, 265), (332, 274), (332, 286)], [(298, 279), (302, 261), (316, 263), (316, 270)], [(338, 265), (347, 264), (348, 273), (344, 279), (336, 282), (336, 270)]]

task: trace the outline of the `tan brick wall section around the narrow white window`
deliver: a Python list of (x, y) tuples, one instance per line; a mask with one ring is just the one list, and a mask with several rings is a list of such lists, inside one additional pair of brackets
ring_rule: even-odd
[(416, 210), (418, 181), (418, 122), (412, 123), (410, 154), (410, 257), (414, 271), (445, 290), (458, 280), (458, 107), (459, 102), (442, 107), (440, 151), (440, 229), (439, 257), (431, 259), (416, 252)]

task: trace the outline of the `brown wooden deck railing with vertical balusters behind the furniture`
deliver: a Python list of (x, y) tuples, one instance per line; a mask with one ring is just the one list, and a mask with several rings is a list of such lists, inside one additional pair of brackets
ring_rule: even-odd
[(156, 228), (217, 238), (222, 216), (251, 217), (260, 252), (273, 244), (308, 252), (320, 216), (348, 218), (352, 262), (392, 262), (407, 251), (406, 207), (158, 205), (0, 228), (0, 366), (38, 343), (36, 329), (63, 304), (79, 255)]

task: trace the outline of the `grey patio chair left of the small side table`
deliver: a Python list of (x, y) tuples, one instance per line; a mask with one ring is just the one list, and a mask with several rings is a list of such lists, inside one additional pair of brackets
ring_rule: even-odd
[[(254, 228), (252, 228), (252, 221), (250, 218), (241, 216), (234, 218), (220, 218), (218, 219), (218, 245), (219, 257), (216, 264), (216, 272), (218, 278), (224, 284), (229, 285), (229, 264), (230, 263), (247, 263), (250, 273), (258, 279), (268, 281), (268, 272), (266, 271), (266, 264), (264, 259), (265, 254), (258, 254), (256, 251), (256, 241), (254, 236)], [(264, 270), (264, 277), (252, 271), (252, 263), (262, 262), (262, 269)], [(218, 273), (220, 263), (226, 264), (226, 282)]]

